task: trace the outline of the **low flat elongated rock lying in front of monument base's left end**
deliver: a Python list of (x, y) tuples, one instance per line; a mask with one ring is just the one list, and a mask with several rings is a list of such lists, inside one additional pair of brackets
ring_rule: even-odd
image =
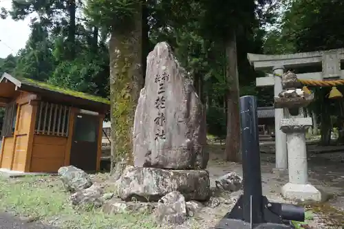
[(155, 203), (138, 202), (138, 201), (122, 201), (122, 199), (111, 199), (103, 206), (103, 212), (107, 214), (118, 213), (151, 213), (155, 208)]

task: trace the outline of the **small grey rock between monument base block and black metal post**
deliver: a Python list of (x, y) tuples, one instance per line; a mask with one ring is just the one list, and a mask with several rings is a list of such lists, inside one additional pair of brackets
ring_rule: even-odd
[(242, 178), (237, 173), (227, 173), (215, 180), (217, 188), (235, 192), (242, 188)]

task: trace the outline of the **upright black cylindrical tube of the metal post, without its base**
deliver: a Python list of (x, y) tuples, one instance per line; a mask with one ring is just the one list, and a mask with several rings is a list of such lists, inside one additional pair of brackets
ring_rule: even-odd
[[(261, 223), (262, 188), (257, 118), (257, 99), (255, 96), (240, 98), (241, 154), (244, 182), (243, 214), (244, 221)], [(251, 213), (252, 210), (252, 213)]]

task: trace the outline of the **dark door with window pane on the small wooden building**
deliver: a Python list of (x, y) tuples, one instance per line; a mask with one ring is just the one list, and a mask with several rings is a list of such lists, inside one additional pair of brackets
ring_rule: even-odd
[(99, 117), (78, 113), (74, 120), (70, 164), (83, 171), (96, 171)]

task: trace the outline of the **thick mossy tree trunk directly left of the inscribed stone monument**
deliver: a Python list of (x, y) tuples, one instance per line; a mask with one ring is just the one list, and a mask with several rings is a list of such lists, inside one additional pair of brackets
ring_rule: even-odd
[(111, 173), (133, 164), (133, 119), (142, 88), (142, 3), (131, 26), (114, 28), (109, 41), (111, 100)]

